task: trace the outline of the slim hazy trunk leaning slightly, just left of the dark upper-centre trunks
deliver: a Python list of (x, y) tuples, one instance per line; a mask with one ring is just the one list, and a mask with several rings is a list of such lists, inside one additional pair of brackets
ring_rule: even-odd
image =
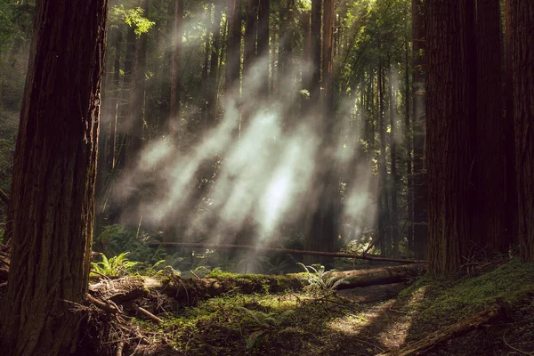
[(217, 78), (219, 77), (219, 52), (221, 46), (221, 19), (223, 17), (222, 5), (214, 6), (214, 22), (212, 28), (212, 53), (209, 61), (209, 76), (207, 81), (207, 126), (213, 127), (217, 117)]

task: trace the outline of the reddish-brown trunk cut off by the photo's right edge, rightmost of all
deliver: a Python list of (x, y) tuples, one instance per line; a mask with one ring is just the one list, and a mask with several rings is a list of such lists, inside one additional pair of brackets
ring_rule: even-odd
[(510, 0), (519, 244), (534, 261), (534, 3)]

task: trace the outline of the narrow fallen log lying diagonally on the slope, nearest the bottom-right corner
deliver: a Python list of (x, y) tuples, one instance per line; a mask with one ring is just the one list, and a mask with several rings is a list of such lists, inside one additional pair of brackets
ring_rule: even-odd
[(482, 325), (498, 319), (504, 312), (505, 308), (503, 305), (494, 304), (483, 312), (479, 312), (471, 317), (460, 320), (456, 324), (438, 330), (429, 336), (425, 336), (419, 341), (407, 344), (399, 350), (383, 352), (377, 356), (409, 356), (424, 354), (453, 337), (465, 335), (475, 328), (480, 328)]

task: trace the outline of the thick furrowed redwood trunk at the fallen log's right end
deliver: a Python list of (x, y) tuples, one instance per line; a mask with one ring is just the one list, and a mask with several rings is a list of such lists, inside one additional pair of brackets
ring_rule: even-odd
[(426, 4), (428, 55), (427, 171), (429, 268), (456, 271), (471, 233), (468, 46), (464, 6)]

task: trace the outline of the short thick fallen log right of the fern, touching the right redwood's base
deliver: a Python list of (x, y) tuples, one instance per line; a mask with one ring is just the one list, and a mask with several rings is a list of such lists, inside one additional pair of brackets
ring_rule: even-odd
[(402, 282), (423, 275), (426, 269), (426, 264), (419, 263), (371, 270), (330, 272), (328, 278), (332, 284), (338, 281), (336, 289), (347, 289)]

